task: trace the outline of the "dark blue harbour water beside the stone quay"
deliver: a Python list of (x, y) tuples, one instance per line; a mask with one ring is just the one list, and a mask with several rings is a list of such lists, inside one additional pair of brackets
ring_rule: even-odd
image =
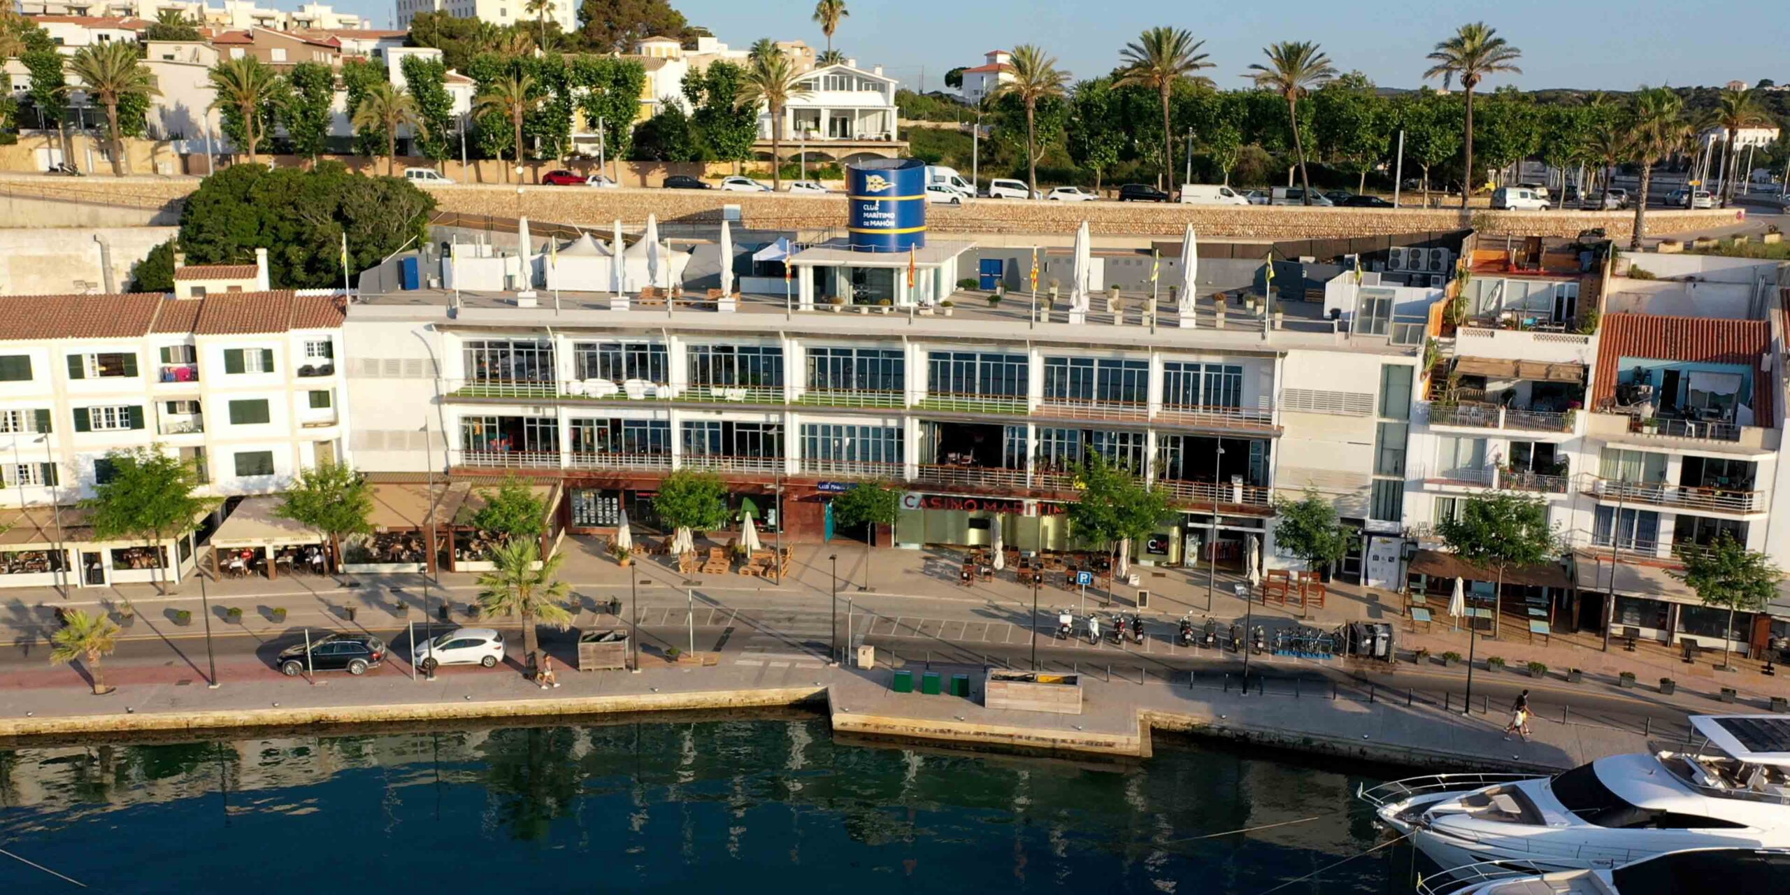
[[(1260, 893), (1378, 841), (1371, 770), (1158, 743), (1079, 764), (823, 720), (0, 750), (4, 848), (116, 893)], [(1212, 832), (1307, 816), (1240, 836)], [(1409, 893), (1385, 848), (1283, 893)], [(0, 856), (0, 893), (75, 886)]]

